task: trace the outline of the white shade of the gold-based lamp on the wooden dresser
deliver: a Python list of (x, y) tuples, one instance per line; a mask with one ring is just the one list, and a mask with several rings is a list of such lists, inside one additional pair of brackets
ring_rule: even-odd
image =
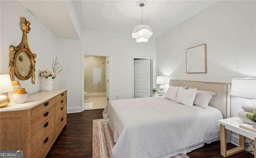
[(0, 93), (12, 92), (12, 81), (10, 75), (0, 75)]

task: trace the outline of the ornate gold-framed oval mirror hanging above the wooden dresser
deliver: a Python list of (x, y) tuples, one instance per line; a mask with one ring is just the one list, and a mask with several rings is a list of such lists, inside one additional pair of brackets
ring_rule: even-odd
[(32, 83), (35, 83), (36, 54), (33, 54), (28, 46), (27, 34), (30, 31), (30, 22), (22, 18), (21, 28), (23, 38), (17, 47), (10, 46), (10, 77), (14, 81), (14, 74), (18, 79), (26, 80), (32, 76)]

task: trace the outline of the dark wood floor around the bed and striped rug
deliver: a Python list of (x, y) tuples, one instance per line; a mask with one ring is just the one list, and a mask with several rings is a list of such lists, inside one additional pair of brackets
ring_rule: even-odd
[[(103, 109), (89, 110), (82, 113), (68, 114), (68, 123), (64, 127), (56, 142), (48, 152), (47, 158), (91, 158), (92, 157), (92, 120), (102, 118)], [(235, 147), (227, 144), (228, 148)], [(190, 158), (223, 158), (220, 155), (220, 141), (205, 144), (187, 154)], [(228, 158), (253, 158), (254, 155), (246, 151)]]

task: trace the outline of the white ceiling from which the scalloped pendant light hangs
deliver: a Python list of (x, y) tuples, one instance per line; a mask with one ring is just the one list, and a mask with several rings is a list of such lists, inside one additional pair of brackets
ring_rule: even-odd
[[(211, 6), (208, 0), (148, 0), (143, 7), (143, 24), (149, 25), (157, 37)], [(23, 1), (57, 38), (81, 39), (82, 30), (131, 34), (141, 24), (141, 8), (137, 1), (73, 0)]]

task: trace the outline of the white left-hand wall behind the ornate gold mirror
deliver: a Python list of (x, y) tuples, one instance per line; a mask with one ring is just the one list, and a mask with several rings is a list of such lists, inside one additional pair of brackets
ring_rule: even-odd
[[(28, 44), (32, 53), (36, 53), (36, 84), (32, 79), (20, 80), (15, 76), (15, 80), (20, 82), (29, 94), (43, 90), (45, 80), (39, 77), (39, 68), (49, 67), (57, 55), (57, 38), (32, 15), (18, 1), (0, 1), (1, 4), (1, 53), (0, 53), (0, 73), (9, 74), (9, 53), (10, 45), (18, 46), (22, 40), (21, 19), (25, 17), (30, 23), (28, 34)], [(57, 88), (57, 80), (54, 79), (54, 89)]]

